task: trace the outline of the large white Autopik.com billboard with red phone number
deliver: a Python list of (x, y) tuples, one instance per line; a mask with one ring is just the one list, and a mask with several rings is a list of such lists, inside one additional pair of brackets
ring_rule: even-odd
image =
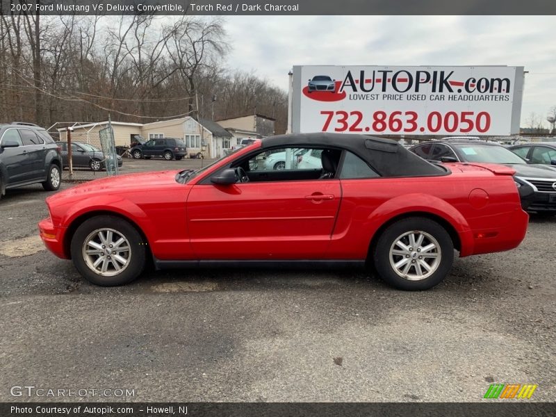
[(295, 66), (294, 133), (506, 136), (523, 67)]

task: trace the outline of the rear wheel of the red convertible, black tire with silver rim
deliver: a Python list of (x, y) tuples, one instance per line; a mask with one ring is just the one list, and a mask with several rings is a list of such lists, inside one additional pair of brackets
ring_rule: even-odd
[[(413, 247), (411, 235), (415, 240), (423, 236), (419, 246)], [(407, 250), (398, 246), (397, 242), (406, 245)], [(426, 250), (430, 245), (433, 245), (432, 249)], [(422, 249), (425, 251), (421, 252)], [(440, 284), (448, 275), (454, 261), (454, 244), (448, 231), (434, 220), (405, 218), (391, 224), (382, 232), (371, 256), (378, 275), (387, 284), (400, 290), (427, 290)], [(398, 271), (394, 265), (404, 259), (407, 259), (407, 262), (399, 265), (398, 268), (402, 270)], [(430, 271), (422, 267), (423, 263), (428, 265)], [(405, 277), (402, 276), (404, 273)]]

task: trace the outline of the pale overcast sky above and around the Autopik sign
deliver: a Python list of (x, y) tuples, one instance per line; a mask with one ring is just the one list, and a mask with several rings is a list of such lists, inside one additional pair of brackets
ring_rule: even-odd
[(556, 106), (555, 16), (234, 16), (225, 27), (229, 67), (284, 90), (293, 65), (510, 65), (529, 72), (521, 126)]

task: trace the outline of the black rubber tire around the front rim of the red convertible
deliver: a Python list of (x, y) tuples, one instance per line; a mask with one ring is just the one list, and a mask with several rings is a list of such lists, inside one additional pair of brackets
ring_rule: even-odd
[[(102, 231), (102, 229), (111, 229), (113, 238), (117, 240), (119, 240), (117, 235), (127, 240), (127, 242), (124, 241), (122, 245), (129, 245), (129, 251), (124, 250), (122, 252), (117, 252), (117, 256), (120, 259), (126, 260), (124, 268), (121, 268), (120, 265), (122, 272), (115, 271), (115, 263), (112, 259), (109, 259), (109, 257), (111, 258), (112, 256), (108, 255), (106, 252), (104, 254), (91, 254), (85, 259), (85, 254), (83, 253), (85, 240), (94, 241), (98, 245), (101, 245), (102, 241), (98, 238), (98, 232)], [(108, 237), (106, 236), (106, 231), (102, 233), (104, 233), (105, 238)], [(87, 247), (92, 248), (90, 245)], [(85, 220), (85, 222), (76, 229), (74, 236), (72, 236), (70, 251), (75, 267), (87, 281), (100, 286), (117, 286), (128, 284), (141, 274), (142, 270), (145, 268), (146, 247), (145, 240), (132, 224), (112, 215), (99, 215)], [(106, 247), (105, 249), (108, 250)], [(95, 270), (93, 270), (92, 263), (99, 258), (103, 259), (101, 263), (99, 263), (100, 267), (104, 265), (104, 259), (106, 258), (107, 268), (105, 274), (110, 273), (112, 275), (101, 275), (101, 271), (97, 270), (97, 272), (95, 272)], [(114, 259), (116, 259), (115, 256)], [(108, 270), (108, 268), (110, 268), (110, 270)]]

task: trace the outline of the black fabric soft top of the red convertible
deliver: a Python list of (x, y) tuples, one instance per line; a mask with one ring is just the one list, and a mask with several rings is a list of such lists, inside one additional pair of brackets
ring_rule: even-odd
[(345, 133), (294, 133), (264, 138), (262, 149), (276, 147), (332, 147), (346, 149), (363, 158), (382, 177), (423, 177), (445, 175), (433, 165), (409, 152), (398, 142), (374, 136)]

